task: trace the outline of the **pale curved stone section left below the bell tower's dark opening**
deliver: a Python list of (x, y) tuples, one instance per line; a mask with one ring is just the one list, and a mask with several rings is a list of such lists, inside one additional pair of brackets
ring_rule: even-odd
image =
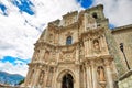
[(88, 29), (97, 29), (96, 20), (91, 15), (87, 15), (87, 28)]

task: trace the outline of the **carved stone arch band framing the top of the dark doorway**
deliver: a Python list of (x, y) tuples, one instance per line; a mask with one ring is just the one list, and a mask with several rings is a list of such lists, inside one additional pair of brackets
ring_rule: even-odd
[(75, 78), (75, 75), (72, 70), (69, 69), (64, 69), (62, 70), (58, 76), (57, 76), (57, 81), (63, 81), (63, 77), (66, 75), (66, 74), (70, 74), (73, 76), (73, 81), (75, 82), (76, 78)]

